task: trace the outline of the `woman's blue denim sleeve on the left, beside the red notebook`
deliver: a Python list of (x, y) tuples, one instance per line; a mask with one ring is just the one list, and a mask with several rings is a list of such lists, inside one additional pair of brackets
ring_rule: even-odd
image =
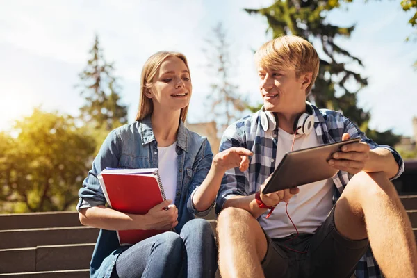
[(83, 181), (83, 186), (79, 190), (77, 211), (106, 204), (106, 197), (104, 197), (97, 176), (106, 167), (117, 167), (120, 158), (120, 144), (118, 140), (116, 132), (111, 131), (106, 140), (104, 140), (103, 145), (101, 145), (99, 153), (92, 162), (92, 168), (88, 171), (88, 175)]

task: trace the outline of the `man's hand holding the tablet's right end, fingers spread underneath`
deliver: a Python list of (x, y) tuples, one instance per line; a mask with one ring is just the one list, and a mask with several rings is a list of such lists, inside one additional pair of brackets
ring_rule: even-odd
[[(342, 141), (349, 139), (349, 134), (344, 133)], [(370, 147), (366, 142), (347, 144), (342, 147), (341, 152), (335, 152), (332, 155), (333, 159), (329, 160), (329, 165), (350, 174), (357, 174), (363, 170), (366, 162), (368, 162), (369, 152)]]

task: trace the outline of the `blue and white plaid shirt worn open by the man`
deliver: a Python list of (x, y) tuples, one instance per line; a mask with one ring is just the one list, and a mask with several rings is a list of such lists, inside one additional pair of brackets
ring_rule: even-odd
[[(393, 177), (396, 179), (404, 171), (404, 162), (398, 152), (386, 145), (377, 145), (359, 130), (356, 124), (352, 123), (341, 113), (328, 109), (314, 109), (314, 129), (320, 144), (328, 144), (342, 140), (343, 133), (349, 133), (350, 138), (360, 137), (361, 141), (368, 143), (370, 149), (383, 147), (389, 149), (398, 163), (398, 173)], [(252, 195), (267, 177), (274, 172), (277, 166), (278, 129), (275, 131), (263, 131), (261, 127), (260, 111), (238, 120), (224, 131), (220, 142), (220, 152), (230, 147), (244, 147), (250, 149), (254, 155), (250, 158), (250, 167), (247, 171), (241, 172), (238, 167), (228, 170), (223, 177), (222, 185), (216, 200), (216, 213), (220, 213), (224, 202), (234, 195)], [(347, 182), (352, 174), (339, 171), (334, 177), (335, 186), (333, 202), (341, 196)], [(373, 258), (371, 250), (360, 259), (355, 272), (358, 278), (382, 277), (377, 262)]]

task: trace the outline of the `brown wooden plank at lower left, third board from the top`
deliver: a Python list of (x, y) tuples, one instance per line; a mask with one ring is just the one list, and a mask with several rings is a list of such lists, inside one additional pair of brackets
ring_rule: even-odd
[(0, 250), (0, 273), (88, 269), (95, 243)]

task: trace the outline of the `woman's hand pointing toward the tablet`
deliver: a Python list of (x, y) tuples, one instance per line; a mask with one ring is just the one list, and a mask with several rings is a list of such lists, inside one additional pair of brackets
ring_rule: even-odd
[(222, 171), (229, 170), (234, 167), (239, 167), (240, 171), (245, 171), (249, 167), (249, 157), (253, 153), (243, 147), (231, 147), (219, 152), (213, 158), (213, 165)]

